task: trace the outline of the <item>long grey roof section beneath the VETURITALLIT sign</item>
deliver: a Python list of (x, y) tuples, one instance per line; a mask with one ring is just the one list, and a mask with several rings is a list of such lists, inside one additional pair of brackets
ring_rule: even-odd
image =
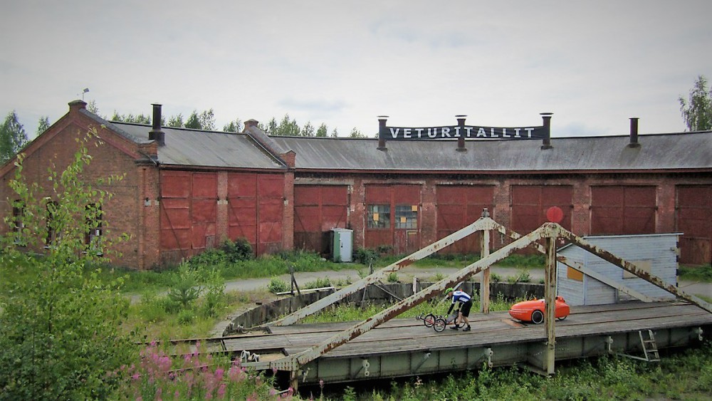
[(560, 170), (658, 170), (712, 168), (712, 132), (629, 136), (554, 137), (553, 149), (539, 140), (389, 141), (376, 139), (273, 137), (296, 153), (296, 168), (314, 170), (425, 170), (536, 172)]

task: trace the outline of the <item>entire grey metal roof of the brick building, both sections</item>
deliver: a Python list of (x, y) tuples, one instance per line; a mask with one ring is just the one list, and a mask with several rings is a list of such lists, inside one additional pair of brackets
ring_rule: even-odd
[[(112, 129), (137, 143), (148, 141), (151, 127), (111, 122)], [(286, 168), (245, 133), (163, 127), (165, 145), (158, 149), (164, 165)], [(553, 137), (552, 149), (540, 140), (389, 141), (377, 139), (268, 137), (273, 148), (293, 150), (297, 170), (413, 170), (441, 172), (547, 172), (576, 170), (680, 170), (712, 168), (712, 131), (629, 136)]]

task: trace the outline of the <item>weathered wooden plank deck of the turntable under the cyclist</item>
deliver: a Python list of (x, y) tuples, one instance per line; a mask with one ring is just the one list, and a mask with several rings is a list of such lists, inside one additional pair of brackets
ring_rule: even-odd
[[(323, 358), (340, 358), (351, 355), (377, 355), (488, 346), (507, 343), (545, 341), (543, 325), (531, 323), (513, 325), (507, 312), (471, 316), (472, 330), (450, 330), (436, 333), (415, 318), (392, 319), (377, 328), (341, 345)], [(271, 327), (271, 334), (225, 340), (229, 350), (284, 348), (288, 355), (327, 340), (358, 322), (318, 323)], [(559, 338), (624, 333), (633, 330), (662, 329), (681, 326), (712, 324), (712, 314), (697, 306), (684, 303), (619, 303), (614, 305), (578, 306), (572, 308), (565, 321), (557, 321)]]

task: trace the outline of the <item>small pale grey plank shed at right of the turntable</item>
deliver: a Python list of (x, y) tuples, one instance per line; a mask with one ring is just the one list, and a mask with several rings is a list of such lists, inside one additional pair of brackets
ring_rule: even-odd
[[(666, 283), (677, 283), (677, 241), (681, 234), (644, 234), (585, 236), (584, 239), (595, 246), (636, 264), (639, 269), (649, 271)], [(674, 299), (675, 296), (653, 284), (624, 273), (618, 266), (590, 254), (578, 246), (567, 245), (558, 250), (570, 261), (575, 261), (587, 269), (592, 269), (617, 283), (656, 300)], [(572, 306), (600, 305), (632, 299), (626, 293), (596, 280), (582, 276), (580, 280), (568, 276), (568, 268), (557, 263), (557, 293)]]

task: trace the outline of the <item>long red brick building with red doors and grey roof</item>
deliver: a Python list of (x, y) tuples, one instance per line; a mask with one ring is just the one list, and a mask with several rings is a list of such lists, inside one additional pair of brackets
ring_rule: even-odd
[[(152, 127), (108, 122), (75, 100), (24, 152), (28, 179), (42, 179), (48, 160), (66, 165), (73, 138), (98, 129), (104, 145), (91, 147), (88, 175), (126, 174), (109, 188), (115, 197), (105, 205), (102, 235), (132, 234), (114, 262), (136, 269), (239, 237), (258, 254), (324, 252), (336, 227), (353, 230), (355, 248), (402, 254), (473, 222), (485, 207), (524, 233), (552, 206), (575, 234), (682, 232), (681, 261), (712, 261), (712, 132), (638, 136), (632, 119), (629, 135), (550, 138), (549, 119), (538, 127), (546, 128), (541, 141), (474, 133), (424, 141), (270, 137), (254, 120), (240, 133), (160, 127), (159, 105)], [(463, 117), (458, 123), (465, 127)], [(513, 139), (509, 132), (500, 136)], [(0, 171), (0, 199), (11, 197), (13, 170), (10, 162)], [(447, 251), (478, 247), (475, 235)]]

